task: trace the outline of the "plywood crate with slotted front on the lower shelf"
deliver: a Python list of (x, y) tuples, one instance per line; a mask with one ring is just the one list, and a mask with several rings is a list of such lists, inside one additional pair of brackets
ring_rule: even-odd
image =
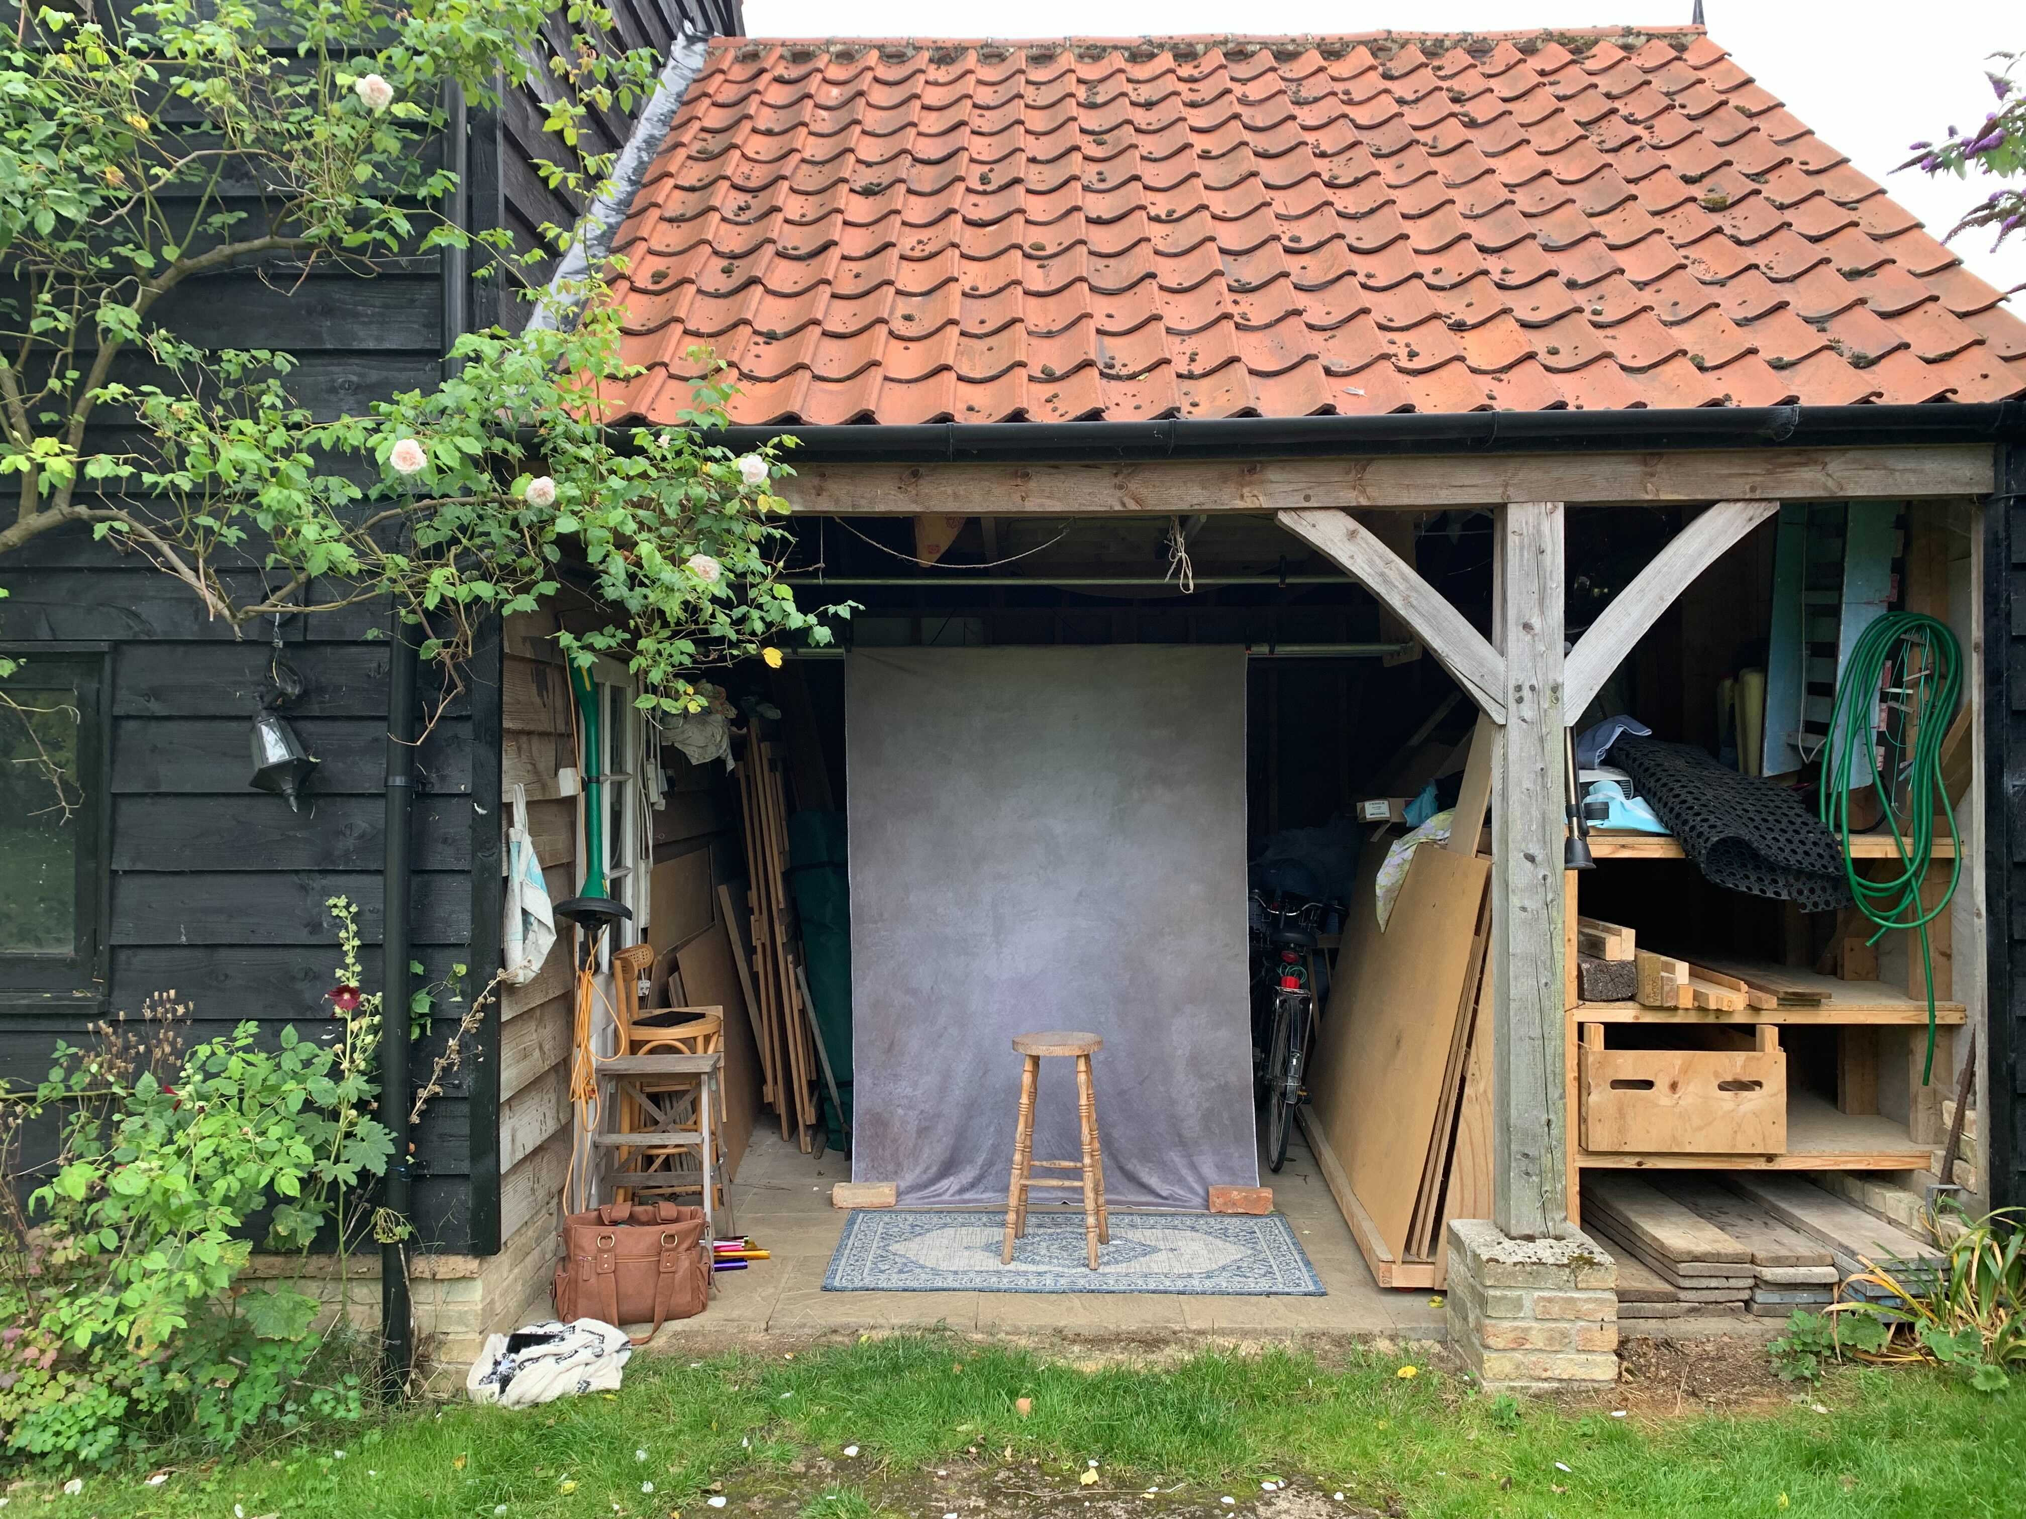
[(1750, 1047), (1605, 1049), (1605, 1025), (1584, 1023), (1582, 1148), (1785, 1154), (1787, 1053), (1779, 1029), (1757, 1025), (1734, 1033), (1746, 1035)]

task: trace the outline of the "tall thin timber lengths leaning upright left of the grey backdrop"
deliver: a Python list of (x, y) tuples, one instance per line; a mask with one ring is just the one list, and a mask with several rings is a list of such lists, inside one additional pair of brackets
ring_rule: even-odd
[[(762, 1096), (780, 1118), (780, 1136), (794, 1134), (806, 1154), (816, 1124), (816, 1047), (802, 996), (802, 944), (788, 895), (788, 804), (782, 792), (780, 745), (752, 719), (737, 764), (739, 810), (746, 816), (746, 879), (750, 942), (742, 942), (739, 976), (748, 982), (754, 1041), (760, 1049)], [(727, 920), (735, 913), (727, 903)]]

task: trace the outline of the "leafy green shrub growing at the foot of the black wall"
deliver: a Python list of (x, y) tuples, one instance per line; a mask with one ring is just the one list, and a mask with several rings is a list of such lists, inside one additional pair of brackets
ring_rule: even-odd
[[(178, 1049), (186, 1009), (154, 998), (146, 1035), (59, 1045), (18, 1126), (55, 1116), (49, 1181), (0, 1235), (0, 1450), (103, 1464), (168, 1436), (229, 1446), (302, 1412), (357, 1414), (348, 1333), (320, 1304), (241, 1282), (251, 1219), (271, 1250), (346, 1250), (363, 1189), (393, 1152), (369, 1116), (379, 1017), (340, 1009), (324, 1039), (259, 1027)], [(156, 1071), (172, 1071), (162, 1080)], [(328, 1369), (328, 1375), (324, 1371)]]

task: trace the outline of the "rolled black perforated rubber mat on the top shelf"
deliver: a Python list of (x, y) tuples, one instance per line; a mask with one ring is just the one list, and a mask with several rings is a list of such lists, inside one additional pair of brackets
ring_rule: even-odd
[(1692, 743), (1631, 733), (1611, 745), (1611, 764), (1633, 778), (1682, 853), (1716, 885), (1807, 911), (1850, 905), (1836, 834), (1785, 786), (1726, 770)]

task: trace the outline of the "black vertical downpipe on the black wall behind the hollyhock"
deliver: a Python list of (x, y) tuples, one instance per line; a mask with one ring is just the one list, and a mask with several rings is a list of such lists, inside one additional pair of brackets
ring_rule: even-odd
[[(393, 1134), (393, 1158), (387, 1163), (387, 1211), (401, 1223), (409, 1217), (409, 1077), (407, 1077), (407, 1001), (409, 1001), (409, 822), (415, 810), (415, 646), (393, 614), (393, 646), (387, 650), (387, 859), (381, 885), (385, 891), (381, 960), (385, 966), (385, 1001), (381, 1003), (381, 1122)], [(401, 1233), (399, 1227), (383, 1235)], [(407, 1300), (407, 1244), (385, 1237), (381, 1244), (381, 1359), (389, 1397), (407, 1391), (409, 1369), (415, 1363), (415, 1323)]]

